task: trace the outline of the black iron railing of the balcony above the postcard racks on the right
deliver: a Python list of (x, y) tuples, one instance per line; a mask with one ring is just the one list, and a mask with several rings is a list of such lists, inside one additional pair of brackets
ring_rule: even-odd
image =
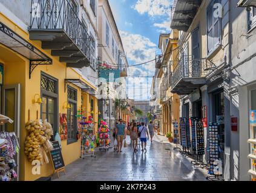
[(193, 59), (192, 57), (183, 57), (172, 73), (171, 87), (174, 89), (181, 80), (192, 82), (193, 79), (205, 78), (207, 75), (211, 74), (212, 71), (214, 71), (215, 67), (216, 66), (214, 63), (207, 59)]

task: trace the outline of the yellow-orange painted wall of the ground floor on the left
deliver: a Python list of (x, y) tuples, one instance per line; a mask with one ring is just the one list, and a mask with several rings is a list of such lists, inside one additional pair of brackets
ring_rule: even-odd
[[(41, 49), (40, 41), (30, 41), (29, 36), (25, 31), (22, 31), (18, 25), (11, 22), (7, 17), (0, 13), (0, 21), (7, 25), (19, 36), (26, 39), (28, 42), (32, 43), (36, 48)], [(54, 78), (59, 80), (59, 113), (67, 113), (67, 109), (64, 109), (64, 103), (67, 101), (67, 92), (65, 92), (65, 78), (77, 78), (82, 79), (77, 72), (73, 69), (66, 68), (64, 63), (59, 62), (58, 57), (52, 57), (50, 55), (50, 50), (43, 50), (42, 52), (47, 54), (51, 59), (53, 59), (53, 65), (38, 66), (34, 69), (31, 79), (29, 79), (29, 61), (19, 54), (11, 51), (5, 46), (0, 46), (0, 62), (4, 64), (4, 84), (21, 84), (21, 131), (20, 131), (20, 179), (19, 180), (36, 180), (42, 176), (50, 176), (53, 174), (53, 165), (48, 163), (41, 167), (41, 175), (31, 174), (31, 164), (28, 163), (27, 157), (24, 154), (24, 141), (27, 136), (27, 131), (25, 130), (25, 123), (28, 121), (28, 109), (30, 109), (30, 119), (36, 119), (36, 111), (38, 110), (40, 115), (39, 104), (33, 104), (32, 100), (34, 95), (38, 93), (41, 94), (41, 72), (45, 72)], [(85, 81), (87, 82), (87, 81)], [(90, 85), (90, 83), (88, 83)], [(79, 87), (70, 85), (77, 89), (77, 109), (81, 106), (81, 90)], [(91, 86), (91, 85), (90, 85)], [(92, 86), (93, 87), (93, 86)], [(88, 96), (90, 98), (90, 96)], [(88, 103), (90, 104), (90, 103)], [(90, 107), (90, 105), (88, 105)], [(97, 100), (94, 98), (94, 112), (97, 112)], [(95, 119), (97, 121), (97, 117)], [(62, 141), (62, 155), (64, 157), (65, 165), (68, 165), (74, 160), (80, 157), (80, 141), (73, 144), (67, 145), (67, 141)], [(50, 159), (50, 156), (48, 156)]]

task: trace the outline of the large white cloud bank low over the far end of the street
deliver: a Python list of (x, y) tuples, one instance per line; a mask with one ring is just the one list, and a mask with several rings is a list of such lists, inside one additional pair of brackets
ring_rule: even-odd
[[(126, 51), (127, 58), (132, 61), (130, 65), (144, 63), (149, 60), (153, 60), (156, 57), (156, 51), (158, 51), (157, 45), (147, 37), (140, 34), (132, 34), (125, 31), (120, 31), (124, 49)], [(155, 72), (155, 62), (149, 62), (145, 65), (133, 66), (128, 69), (128, 95), (130, 98), (136, 100), (146, 100), (150, 96), (150, 87), (152, 78)], [(136, 87), (134, 93), (133, 87)], [(140, 89), (142, 87), (142, 90)], [(140, 98), (140, 93), (143, 93)]]

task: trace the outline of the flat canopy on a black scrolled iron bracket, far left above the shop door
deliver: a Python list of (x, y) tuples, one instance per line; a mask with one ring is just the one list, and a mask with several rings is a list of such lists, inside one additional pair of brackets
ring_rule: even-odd
[(27, 40), (0, 22), (0, 43), (30, 60), (29, 75), (38, 65), (52, 65), (52, 60)]

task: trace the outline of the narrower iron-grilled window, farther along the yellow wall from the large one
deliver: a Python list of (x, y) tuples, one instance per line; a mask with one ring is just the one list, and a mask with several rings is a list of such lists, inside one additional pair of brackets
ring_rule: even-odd
[(67, 129), (68, 129), (68, 144), (77, 142), (77, 90), (68, 87), (68, 104), (70, 109), (67, 110)]

